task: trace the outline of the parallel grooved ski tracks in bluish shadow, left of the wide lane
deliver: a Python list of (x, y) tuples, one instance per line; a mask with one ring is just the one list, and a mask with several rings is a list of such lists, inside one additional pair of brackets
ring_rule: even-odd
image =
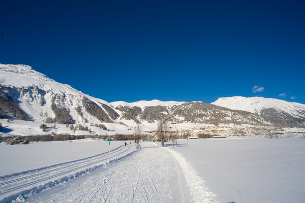
[[(123, 155), (122, 157), (124, 157), (124, 155), (128, 155), (130, 152), (135, 152), (133, 150), (134, 145), (130, 145), (129, 147), (120, 146), (116, 149), (111, 150), (112, 153), (110, 154), (110, 162), (115, 159), (121, 158), (120, 155)], [(96, 168), (101, 167), (102, 165), (104, 165), (101, 164), (101, 162), (103, 161), (105, 162), (104, 164), (107, 164), (108, 152), (75, 161), (69, 161), (47, 167), (37, 168), (36, 170), (29, 170), (25, 172), (2, 176), (0, 177), (0, 201), (4, 199), (4, 201), (9, 202), (10, 196), (14, 198), (16, 194), (25, 191), (31, 192), (31, 190), (35, 190), (35, 188), (48, 184), (48, 180), (54, 181), (59, 180), (60, 178), (65, 179), (65, 175), (68, 176), (66, 178), (67, 180), (73, 179), (78, 176), (78, 173), (80, 173), (80, 175), (82, 172), (83, 174), (85, 174), (90, 170), (93, 171)], [(54, 172), (56, 173), (54, 174)], [(46, 187), (48, 187), (48, 185), (46, 185)]]

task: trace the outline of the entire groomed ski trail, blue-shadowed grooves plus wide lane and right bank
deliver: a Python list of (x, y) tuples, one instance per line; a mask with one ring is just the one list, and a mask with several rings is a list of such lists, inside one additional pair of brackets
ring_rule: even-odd
[(184, 157), (148, 142), (2, 176), (0, 201), (218, 202)]

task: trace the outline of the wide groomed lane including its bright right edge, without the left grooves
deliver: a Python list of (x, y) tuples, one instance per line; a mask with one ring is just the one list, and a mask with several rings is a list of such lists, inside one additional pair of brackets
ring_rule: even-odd
[[(134, 148), (134, 146), (131, 147)], [(123, 153), (126, 154), (124, 158), (113, 159), (110, 161), (111, 164), (98, 166), (96, 170), (82, 173), (77, 178), (63, 179), (54, 185), (21, 193), (7, 200), (14, 202), (218, 202), (215, 200), (215, 195), (204, 187), (201, 178), (196, 176), (194, 168), (180, 154), (166, 147), (158, 147), (155, 143), (141, 143), (140, 148), (140, 150), (131, 150), (123, 147), (131, 152)], [(118, 149), (121, 148), (116, 150)], [(88, 159), (90, 158), (92, 157)]]

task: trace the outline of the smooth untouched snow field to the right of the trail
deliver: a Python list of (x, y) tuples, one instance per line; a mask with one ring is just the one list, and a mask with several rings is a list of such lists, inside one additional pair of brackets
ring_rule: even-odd
[(183, 147), (175, 151), (191, 162), (220, 202), (305, 202), (305, 139), (227, 138), (179, 143)]

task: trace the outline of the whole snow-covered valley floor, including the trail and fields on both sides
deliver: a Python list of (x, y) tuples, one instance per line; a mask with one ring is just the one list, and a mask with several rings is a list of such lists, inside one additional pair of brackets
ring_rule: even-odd
[(305, 139), (108, 144), (1, 143), (0, 201), (305, 202)]

